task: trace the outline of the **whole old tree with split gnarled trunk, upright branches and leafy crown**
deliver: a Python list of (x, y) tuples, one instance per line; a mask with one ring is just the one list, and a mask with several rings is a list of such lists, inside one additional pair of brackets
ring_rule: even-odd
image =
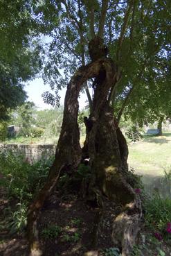
[[(165, 1), (162, 3), (165, 6)], [(150, 65), (144, 54), (155, 35), (147, 20), (156, 18), (156, 4), (155, 0), (150, 5), (149, 1), (138, 0), (62, 0), (41, 1), (33, 6), (42, 32), (51, 38), (47, 43), (45, 82), (51, 80), (53, 88), (57, 83), (58, 90), (67, 76), (72, 76), (55, 160), (46, 184), (28, 211), (31, 255), (42, 255), (37, 221), (44, 201), (53, 192), (60, 174), (66, 169), (74, 170), (87, 156), (91, 166), (87, 194), (100, 207), (104, 197), (123, 205), (124, 212), (114, 220), (112, 239), (122, 248), (122, 255), (131, 254), (141, 221), (141, 200), (127, 182), (127, 143), (114, 117), (114, 99), (120, 81), (125, 89), (141, 76), (141, 69)], [(158, 47), (152, 50), (153, 56), (159, 51)], [(64, 69), (64, 79), (60, 69)], [(93, 87), (93, 99), (89, 86)], [(78, 128), (78, 96), (82, 89), (87, 92), (90, 107), (90, 115), (84, 119), (87, 137), (83, 148)]]

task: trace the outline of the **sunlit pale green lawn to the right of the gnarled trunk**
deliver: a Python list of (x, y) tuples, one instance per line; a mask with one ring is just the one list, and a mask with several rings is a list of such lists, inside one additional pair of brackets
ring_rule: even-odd
[(140, 142), (129, 144), (128, 163), (143, 176), (147, 190), (161, 189), (164, 169), (171, 169), (171, 133), (145, 135)]

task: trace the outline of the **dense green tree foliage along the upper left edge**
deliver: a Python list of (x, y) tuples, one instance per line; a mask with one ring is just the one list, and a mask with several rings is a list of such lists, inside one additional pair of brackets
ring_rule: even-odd
[(24, 103), (24, 82), (42, 66), (41, 46), (33, 38), (37, 21), (32, 6), (33, 1), (23, 0), (0, 4), (0, 120), (7, 118), (9, 109)]

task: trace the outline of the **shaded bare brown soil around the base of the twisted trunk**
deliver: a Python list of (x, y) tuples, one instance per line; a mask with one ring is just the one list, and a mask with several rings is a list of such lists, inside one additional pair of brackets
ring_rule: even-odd
[[(0, 256), (28, 256), (26, 230), (21, 234), (10, 234), (5, 210), (12, 202), (6, 200), (4, 188), (0, 189), (0, 194)], [(105, 213), (100, 212), (98, 205), (91, 205), (82, 200), (78, 191), (55, 191), (46, 201), (39, 219), (43, 256), (83, 256), (88, 252), (87, 255), (92, 256), (109, 256), (105, 250), (114, 248), (111, 239), (112, 223), (120, 212), (120, 205), (105, 200), (105, 209)], [(171, 255), (170, 244), (158, 242), (151, 237), (149, 230), (145, 230), (142, 223), (138, 237), (141, 253), (135, 248), (132, 255)], [(159, 254), (160, 249), (165, 255)]]

